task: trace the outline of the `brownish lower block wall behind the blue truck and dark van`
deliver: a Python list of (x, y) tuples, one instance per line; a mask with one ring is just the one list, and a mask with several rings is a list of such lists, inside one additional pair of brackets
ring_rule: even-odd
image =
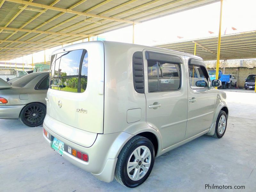
[[(207, 66), (207, 65), (206, 65)], [(207, 68), (208, 70), (215, 70), (215, 68)], [(224, 68), (219, 68), (222, 73), (224, 73)], [(224, 74), (230, 74), (230, 75), (236, 75), (236, 78), (238, 79), (236, 84), (238, 87), (243, 88), (245, 78), (247, 78), (249, 75), (256, 74), (256, 67), (253, 68), (247, 68), (247, 67), (225, 67), (225, 73)]]

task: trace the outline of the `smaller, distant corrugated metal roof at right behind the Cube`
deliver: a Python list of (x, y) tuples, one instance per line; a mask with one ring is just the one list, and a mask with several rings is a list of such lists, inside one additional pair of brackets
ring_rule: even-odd
[[(154, 45), (164, 49), (194, 54), (204, 60), (217, 59), (218, 36)], [(252, 59), (256, 58), (256, 31), (248, 31), (221, 36), (220, 59)]]

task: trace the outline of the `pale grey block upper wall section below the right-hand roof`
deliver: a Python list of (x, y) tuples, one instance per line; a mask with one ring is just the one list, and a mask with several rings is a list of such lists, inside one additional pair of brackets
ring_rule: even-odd
[[(204, 61), (205, 65), (208, 68), (216, 68), (216, 61)], [(247, 67), (247, 68), (253, 68), (256, 67), (256, 59), (247, 59), (247, 60), (227, 60), (220, 61), (220, 67)]]

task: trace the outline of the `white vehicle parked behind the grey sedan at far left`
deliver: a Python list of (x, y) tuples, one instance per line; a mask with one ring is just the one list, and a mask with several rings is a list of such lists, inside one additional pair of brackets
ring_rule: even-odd
[(0, 78), (4, 79), (5, 81), (24, 75), (28, 75), (28, 73), (20, 69), (0, 68)]

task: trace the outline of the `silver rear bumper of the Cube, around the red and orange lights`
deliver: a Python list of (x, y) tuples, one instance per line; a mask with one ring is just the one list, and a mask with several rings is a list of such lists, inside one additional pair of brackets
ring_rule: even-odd
[[(43, 124), (43, 127), (51, 135), (48, 139), (43, 133), (44, 139), (47, 140), (50, 146), (52, 146), (52, 140), (55, 137), (64, 142), (65, 145), (88, 154), (88, 162), (69, 154), (67, 151), (63, 151), (62, 156), (70, 163), (87, 172), (91, 172), (96, 178), (105, 182), (111, 182), (114, 179), (117, 156), (126, 141), (133, 136), (127, 132), (98, 134), (97, 139), (91, 147), (83, 147), (75, 142), (71, 142), (68, 138), (61, 137), (45, 124)], [(84, 140), (86, 139), (84, 138)]]

